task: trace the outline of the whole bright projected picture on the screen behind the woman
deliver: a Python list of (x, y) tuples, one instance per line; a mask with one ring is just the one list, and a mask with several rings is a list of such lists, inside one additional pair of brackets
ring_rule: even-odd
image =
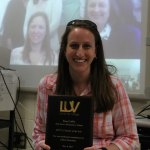
[(67, 23), (91, 20), (126, 90), (138, 90), (141, 7), (141, 0), (1, 0), (0, 46), (10, 49), (10, 65), (57, 66)]

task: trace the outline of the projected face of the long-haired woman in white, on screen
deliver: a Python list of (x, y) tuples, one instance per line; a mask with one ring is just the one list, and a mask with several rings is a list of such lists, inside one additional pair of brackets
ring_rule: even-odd
[(43, 17), (35, 17), (29, 26), (29, 39), (32, 44), (42, 44), (46, 35), (46, 22)]

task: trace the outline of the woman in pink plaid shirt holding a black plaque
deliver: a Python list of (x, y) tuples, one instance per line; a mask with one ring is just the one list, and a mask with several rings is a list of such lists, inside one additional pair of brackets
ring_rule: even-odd
[(116, 70), (106, 64), (96, 24), (85, 20), (69, 22), (62, 36), (58, 70), (43, 77), (39, 84), (32, 135), (35, 150), (50, 149), (45, 144), (49, 94), (92, 96), (95, 103), (93, 146), (84, 150), (136, 150), (139, 147), (130, 100), (121, 81), (109, 69)]

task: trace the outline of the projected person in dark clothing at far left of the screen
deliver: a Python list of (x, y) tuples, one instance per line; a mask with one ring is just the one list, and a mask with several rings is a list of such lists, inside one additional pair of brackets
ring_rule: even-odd
[(23, 45), (23, 24), (27, 3), (28, 0), (9, 1), (2, 22), (0, 46), (12, 50)]

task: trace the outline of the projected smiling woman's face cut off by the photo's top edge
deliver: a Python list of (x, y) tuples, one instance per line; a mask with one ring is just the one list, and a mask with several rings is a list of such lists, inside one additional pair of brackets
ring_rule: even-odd
[(98, 28), (104, 28), (110, 13), (109, 0), (88, 0), (87, 16)]

